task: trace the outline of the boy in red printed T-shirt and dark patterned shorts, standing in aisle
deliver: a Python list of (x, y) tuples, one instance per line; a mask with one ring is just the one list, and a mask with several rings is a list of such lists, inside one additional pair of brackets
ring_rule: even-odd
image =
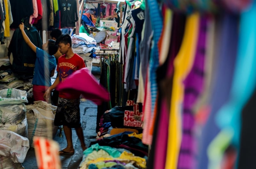
[[(57, 71), (58, 76), (52, 86), (44, 93), (44, 98), (50, 98), (51, 91), (61, 82), (65, 81), (67, 77), (85, 67), (84, 59), (75, 54), (72, 50), (71, 37), (68, 34), (60, 35), (56, 44), (59, 47), (60, 53), (63, 54), (58, 59)], [(63, 125), (64, 133), (67, 139), (67, 147), (60, 150), (61, 154), (74, 154), (75, 150), (72, 142), (72, 130), (76, 129), (76, 134), (81, 142), (83, 151), (86, 149), (84, 143), (84, 134), (80, 122), (80, 95), (74, 93), (59, 92), (58, 107), (55, 114), (54, 125)]]

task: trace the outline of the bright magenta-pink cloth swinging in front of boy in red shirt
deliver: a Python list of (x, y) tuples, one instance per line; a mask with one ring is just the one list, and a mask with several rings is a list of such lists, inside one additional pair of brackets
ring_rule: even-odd
[(60, 83), (56, 90), (68, 94), (82, 94), (84, 98), (100, 105), (109, 101), (109, 93), (93, 77), (87, 68), (82, 68), (72, 73), (68, 78)]

